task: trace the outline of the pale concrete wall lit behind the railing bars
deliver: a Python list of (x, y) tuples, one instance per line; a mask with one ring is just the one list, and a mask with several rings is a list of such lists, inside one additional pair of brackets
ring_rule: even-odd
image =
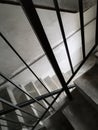
[[(54, 11), (41, 9), (37, 9), (37, 12), (50, 41), (51, 47), (54, 48), (53, 52), (56, 56), (58, 64), (62, 72), (67, 72), (70, 69), (70, 66), (64, 48), (56, 13)], [(95, 12), (96, 7), (93, 6), (84, 13), (87, 53), (94, 45), (95, 40)], [(63, 19), (70, 55), (72, 57), (72, 63), (73, 65), (76, 65), (82, 59), (79, 14), (61, 13), (61, 16)], [(27, 63), (37, 60), (37, 58), (44, 54), (39, 41), (37, 40), (20, 7), (0, 5), (0, 23), (1, 32), (3, 32), (6, 38), (11, 42), (11, 44)], [(5, 73), (7, 76), (11, 76), (21, 70), (23, 67), (23, 63), (0, 38), (0, 71)], [(54, 75), (46, 56), (43, 56), (40, 60), (35, 62), (31, 68), (41, 78), (44, 78), (47, 75)], [(32, 76), (29, 70), (25, 70), (13, 80), (19, 84), (25, 85), (28, 82), (36, 79)]]

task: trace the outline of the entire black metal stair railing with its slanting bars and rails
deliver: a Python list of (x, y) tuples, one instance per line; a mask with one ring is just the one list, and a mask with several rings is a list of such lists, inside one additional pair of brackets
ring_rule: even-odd
[[(83, 3), (82, 0), (79, 0), (79, 15), (80, 15), (80, 27), (81, 27), (81, 39), (82, 39), (82, 54), (83, 54), (83, 60), (81, 62), (81, 64), (78, 66), (78, 68), (76, 70), (74, 70), (74, 67), (72, 65), (72, 60), (71, 60), (71, 56), (70, 56), (70, 52), (68, 49), (68, 45), (67, 45), (67, 40), (66, 40), (66, 36), (65, 36), (65, 32), (64, 32), (64, 27), (63, 27), (63, 22), (62, 22), (62, 18), (61, 18), (61, 14), (60, 11), (66, 11), (64, 9), (60, 9), (59, 8), (59, 4), (57, 0), (53, 0), (54, 2), (54, 8), (48, 8), (48, 7), (43, 7), (43, 6), (37, 6), (34, 5), (32, 0), (19, 0), (18, 2), (13, 2), (13, 1), (6, 1), (6, 0), (1, 0), (1, 3), (7, 3), (7, 4), (13, 4), (13, 5), (18, 5), (21, 6), (31, 24), (32, 29), (35, 31), (36, 36), (38, 37), (40, 44), (47, 56), (47, 58), (49, 59), (52, 68), (54, 69), (55, 74), (57, 75), (60, 84), (62, 86), (61, 89), (55, 90), (50, 92), (49, 89), (47, 88), (47, 86), (40, 80), (40, 78), (36, 75), (36, 73), (31, 69), (31, 67), (25, 62), (25, 60), (19, 55), (19, 53), (15, 50), (15, 48), (11, 45), (11, 43), (5, 38), (5, 36), (2, 34), (2, 32), (0, 32), (0, 37), (6, 42), (6, 44), (13, 50), (13, 52), (18, 56), (18, 58), (23, 62), (23, 64), (26, 66), (26, 68), (33, 74), (33, 76), (36, 77), (36, 79), (42, 84), (42, 86), (45, 88), (45, 90), (47, 91), (46, 94), (38, 96), (38, 97), (33, 97), (31, 96), (29, 93), (27, 93), (26, 91), (24, 91), (19, 85), (17, 85), (16, 83), (14, 83), (11, 78), (8, 78), (7, 76), (5, 76), (4, 74), (0, 73), (0, 76), (5, 79), (5, 81), (3, 82), (9, 82), (11, 83), (15, 88), (17, 88), (19, 91), (21, 91), (23, 94), (27, 95), (30, 100), (24, 101), (22, 103), (19, 103), (17, 105), (14, 105), (13, 103), (10, 103), (9, 101), (3, 99), (0, 97), (0, 102), (4, 103), (8, 106), (10, 106), (9, 109), (7, 110), (1, 110), (0, 111), (0, 120), (5, 120), (8, 122), (11, 122), (12, 124), (18, 124), (19, 126), (22, 127), (32, 127), (32, 129), (35, 129), (35, 127), (42, 121), (42, 119), (44, 118), (44, 116), (46, 115), (46, 113), (52, 109), (55, 110), (55, 108), (53, 107), (53, 104), (55, 103), (55, 101), (59, 98), (59, 96), (61, 95), (62, 92), (65, 92), (69, 98), (69, 100), (72, 100), (72, 96), (71, 93), (69, 91), (70, 87), (69, 87), (69, 83), (72, 81), (72, 79), (74, 78), (74, 76), (77, 74), (77, 72), (80, 70), (80, 68), (84, 65), (85, 61), (88, 59), (88, 57), (91, 55), (91, 53), (94, 51), (94, 49), (96, 48), (96, 46), (98, 45), (98, 1), (97, 1), (97, 15), (96, 15), (96, 36), (95, 36), (95, 45), (92, 47), (92, 49), (89, 51), (89, 53), (86, 55), (86, 50), (85, 50), (85, 35), (84, 35), (84, 16), (83, 16)], [(50, 46), (50, 43), (48, 41), (47, 35), (44, 31), (44, 28), (42, 26), (42, 23), (39, 19), (39, 16), (37, 14), (37, 11), (35, 8), (42, 8), (42, 9), (50, 9), (50, 10), (54, 10), (56, 12), (57, 18), (58, 18), (58, 23), (59, 23), (59, 27), (60, 27), (60, 31), (62, 34), (62, 38), (64, 41), (64, 46), (67, 52), (67, 56), (68, 56), (68, 60), (69, 60), (69, 64), (70, 64), (70, 69), (72, 72), (72, 76), (69, 78), (68, 81), (65, 81), (62, 72), (59, 68), (59, 65), (57, 63), (57, 60), (53, 54), (53, 50)], [(1, 84), (2, 85), (2, 84)], [(54, 95), (56, 95), (54, 97)], [(52, 102), (49, 103), (47, 98), (48, 97), (52, 97)], [(40, 103), (40, 101), (44, 101), (48, 107), (44, 106), (42, 103)], [(25, 110), (23, 110), (22, 108), (29, 106), (33, 103), (37, 103), (43, 110), (44, 113), (38, 117), (33, 115), (32, 113), (29, 113)], [(37, 110), (36, 107), (32, 106), (32, 108), (36, 111)], [(23, 122), (16, 122), (13, 121), (11, 119), (7, 119), (6, 117), (2, 117), (2, 115), (6, 115), (8, 113), (11, 113), (13, 111), (19, 110), (20, 112), (25, 113), (26, 115), (30, 116), (33, 120), (34, 123), (32, 125), (29, 125), (27, 123), (23, 123)], [(17, 116), (21, 116), (23, 118), (26, 118), (23, 115), (19, 115), (16, 114)], [(0, 126), (3, 127), (9, 127), (7, 125), (3, 125), (0, 124)], [(10, 126), (11, 127), (11, 126)]]

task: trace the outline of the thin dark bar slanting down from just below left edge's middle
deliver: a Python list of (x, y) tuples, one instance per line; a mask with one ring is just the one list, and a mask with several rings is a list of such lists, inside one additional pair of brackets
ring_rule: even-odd
[[(31, 99), (35, 100), (40, 106), (42, 106), (42, 108), (46, 109), (39, 101), (37, 101), (35, 98), (33, 98), (31, 95), (29, 95), (28, 93), (26, 93), (24, 90), (22, 90), (19, 86), (17, 86), (13, 81), (11, 81), (10, 79), (8, 79), (4, 74), (0, 73), (0, 76), (3, 77), (4, 79), (6, 79), (7, 81), (9, 81), (12, 85), (14, 85), (17, 89), (19, 89), (21, 92), (23, 92), (24, 94), (26, 94), (27, 96), (29, 96)], [(35, 108), (34, 108), (35, 109)]]

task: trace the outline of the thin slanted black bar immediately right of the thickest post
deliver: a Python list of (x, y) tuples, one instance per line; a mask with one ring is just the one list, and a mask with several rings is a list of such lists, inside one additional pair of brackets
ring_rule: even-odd
[(71, 68), (71, 71), (72, 71), (72, 74), (73, 74), (74, 73), (74, 69), (73, 69), (73, 65), (72, 65), (69, 49), (68, 49), (68, 46), (67, 46), (67, 40), (66, 40), (66, 36), (65, 36), (65, 32), (64, 32), (62, 18), (61, 18), (60, 11), (59, 11), (58, 1), (57, 0), (53, 0), (53, 2), (54, 2), (54, 5), (55, 5), (56, 14), (57, 14), (58, 22), (59, 22), (59, 25), (60, 25), (60, 30), (61, 30), (61, 34), (62, 34), (62, 37), (63, 37), (65, 49), (66, 49), (66, 52), (67, 52), (70, 68)]

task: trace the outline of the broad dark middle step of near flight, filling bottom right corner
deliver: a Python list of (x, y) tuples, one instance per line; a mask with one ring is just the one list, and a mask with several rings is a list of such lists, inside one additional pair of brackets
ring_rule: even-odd
[(73, 100), (62, 110), (75, 130), (98, 130), (98, 111), (75, 89)]

